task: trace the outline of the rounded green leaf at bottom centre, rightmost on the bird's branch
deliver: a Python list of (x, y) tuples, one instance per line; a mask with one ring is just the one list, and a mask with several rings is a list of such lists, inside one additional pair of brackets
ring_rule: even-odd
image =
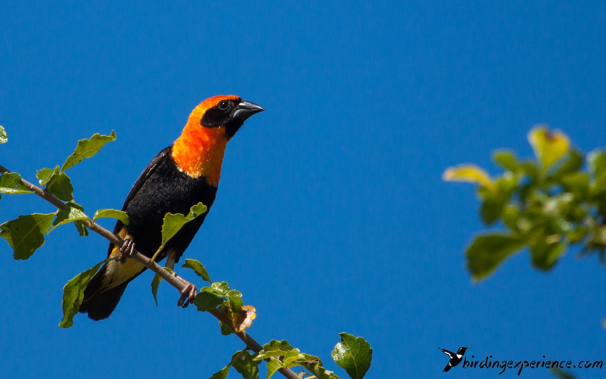
[(330, 354), (333, 360), (352, 379), (362, 379), (370, 368), (373, 358), (373, 349), (368, 341), (362, 337), (354, 337), (351, 334), (339, 333), (341, 342), (336, 344), (335, 350)]

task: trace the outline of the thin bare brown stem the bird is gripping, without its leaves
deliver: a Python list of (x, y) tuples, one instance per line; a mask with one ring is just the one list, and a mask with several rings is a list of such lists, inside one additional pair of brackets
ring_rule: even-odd
[[(10, 171), (6, 167), (0, 165), (0, 173), (5, 172)], [(28, 182), (25, 179), (21, 179), (21, 182), (25, 185), (25, 187), (27, 187), (28, 190), (36, 193), (36, 195), (53, 204), (53, 206), (56, 206), (59, 209), (65, 209), (67, 207), (61, 200), (53, 196), (52, 193), (41, 189), (40, 187)], [(104, 227), (100, 226), (99, 224), (93, 223), (93, 221), (83, 220), (76, 222), (82, 223), (88, 229), (93, 230), (93, 232), (96, 232), (99, 235), (103, 236), (116, 246), (122, 246), (122, 244), (124, 243), (124, 240), (122, 240), (122, 238), (105, 229)], [(138, 261), (139, 263), (142, 263), (145, 267), (158, 274), (162, 279), (167, 281), (168, 284), (178, 289), (179, 292), (187, 288), (187, 285), (181, 280), (179, 280), (179, 277), (173, 275), (167, 270), (164, 270), (162, 266), (160, 266), (158, 263), (152, 262), (150, 258), (145, 257), (145, 255), (139, 253), (136, 249), (133, 249), (133, 255), (131, 258)], [(263, 349), (263, 347), (254, 338), (250, 337), (250, 335), (248, 335), (246, 332), (236, 333), (235, 330), (233, 330), (233, 327), (231, 327), (230, 315), (228, 315), (227, 312), (225, 312), (224, 310), (215, 308), (208, 310), (207, 312), (215, 316), (219, 321), (229, 327), (235, 335), (237, 335), (242, 341), (244, 341), (248, 349), (253, 350), (254, 352), (259, 352)], [(266, 361), (270, 361), (270, 359), (267, 359)], [(299, 379), (299, 375), (295, 374), (295, 372), (293, 372), (291, 369), (282, 368), (278, 371), (280, 372), (280, 374), (284, 375), (284, 377), (287, 377), (288, 379)]]

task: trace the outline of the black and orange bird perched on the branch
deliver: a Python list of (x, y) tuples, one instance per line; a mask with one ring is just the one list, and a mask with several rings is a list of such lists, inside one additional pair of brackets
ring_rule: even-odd
[[(128, 253), (136, 247), (153, 257), (162, 243), (164, 215), (186, 215), (201, 202), (207, 210), (185, 224), (157, 256), (157, 261), (167, 258), (166, 267), (175, 267), (215, 201), (227, 142), (248, 117), (262, 111), (261, 106), (236, 95), (213, 96), (191, 111), (179, 138), (151, 160), (126, 196), (122, 210), (128, 215), (128, 225), (117, 221), (113, 230), (124, 244), (109, 244), (107, 257), (116, 259), (105, 263), (88, 281), (80, 313), (95, 321), (110, 317), (128, 283), (145, 270)], [(179, 306), (187, 306), (195, 297), (195, 286), (188, 285), (190, 292), (181, 292)]]

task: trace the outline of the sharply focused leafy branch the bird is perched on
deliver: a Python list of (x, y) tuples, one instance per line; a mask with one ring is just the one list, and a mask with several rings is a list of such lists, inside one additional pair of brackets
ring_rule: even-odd
[[(5, 194), (26, 194), (36, 193), (44, 200), (53, 204), (58, 210), (55, 213), (34, 213), (32, 215), (21, 215), (16, 220), (7, 221), (0, 225), (0, 236), (8, 241), (13, 248), (13, 257), (15, 259), (25, 260), (33, 255), (36, 249), (44, 244), (45, 234), (52, 232), (56, 227), (63, 224), (73, 223), (81, 236), (87, 236), (88, 230), (106, 238), (116, 246), (122, 246), (124, 240), (105, 229), (95, 221), (101, 217), (111, 217), (121, 220), (128, 224), (128, 217), (125, 212), (114, 209), (102, 209), (95, 212), (93, 218), (89, 218), (84, 212), (84, 208), (73, 200), (73, 187), (70, 178), (65, 170), (80, 163), (84, 158), (91, 158), (104, 144), (114, 141), (115, 133), (109, 136), (95, 134), (90, 139), (82, 139), (78, 142), (74, 153), (70, 155), (65, 163), (59, 169), (42, 169), (38, 171), (37, 178), (41, 186), (45, 189), (32, 184), (21, 178), (18, 173), (10, 172), (3, 166), (0, 166), (0, 193)], [(0, 144), (7, 142), (8, 138), (2, 126), (0, 126)], [(64, 203), (65, 201), (65, 203)], [(204, 204), (196, 204), (191, 207), (188, 215), (167, 213), (162, 226), (162, 246), (158, 251), (172, 238), (182, 226), (197, 216), (204, 213), (206, 207)], [(156, 253), (157, 255), (157, 253)], [(183, 293), (188, 289), (190, 283), (178, 277), (176, 273), (161, 267), (154, 260), (145, 257), (136, 249), (133, 249), (129, 258), (132, 258), (145, 267), (155, 272), (155, 278), (151, 283), (152, 293), (156, 300), (156, 292), (161, 279), (164, 279), (171, 286)], [(73, 317), (78, 314), (78, 309), (84, 297), (84, 289), (90, 278), (95, 274), (99, 267), (115, 258), (108, 258), (99, 262), (92, 268), (76, 275), (75, 278), (68, 281), (64, 287), (64, 297), (62, 308), (64, 317), (59, 326), (70, 327), (73, 324)], [(303, 354), (298, 349), (294, 349), (287, 341), (282, 341), (279, 346), (277, 341), (271, 341), (269, 344), (261, 346), (255, 339), (250, 337), (244, 329), (250, 327), (256, 317), (256, 310), (252, 306), (244, 306), (242, 294), (238, 290), (230, 289), (225, 282), (212, 282), (207, 270), (196, 260), (185, 260), (182, 267), (192, 269), (203, 280), (208, 281), (210, 286), (202, 287), (194, 300), (194, 304), (199, 311), (205, 311), (219, 320), (221, 332), (224, 335), (236, 334), (246, 345), (246, 349), (236, 352), (231, 358), (230, 363), (221, 371), (212, 375), (211, 379), (225, 379), (230, 367), (238, 371), (242, 377), (256, 379), (259, 376), (258, 365), (262, 360), (267, 361), (267, 378), (270, 378), (275, 372), (280, 372), (289, 379), (301, 379), (305, 374), (308, 379), (338, 379), (334, 372), (328, 371), (322, 366), (318, 357)], [(156, 301), (157, 304), (157, 301)], [(278, 349), (279, 347), (279, 349)], [(251, 350), (255, 354), (250, 354)], [(363, 338), (355, 338), (349, 334), (341, 334), (341, 342), (335, 347), (332, 355), (336, 363), (343, 367), (351, 378), (362, 379), (370, 367), (372, 349)], [(302, 367), (304, 371), (297, 375), (290, 368)]]

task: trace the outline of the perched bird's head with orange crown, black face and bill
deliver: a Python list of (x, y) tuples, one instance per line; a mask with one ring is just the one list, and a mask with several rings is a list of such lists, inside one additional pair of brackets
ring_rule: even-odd
[(219, 95), (198, 104), (191, 112), (187, 123), (190, 126), (222, 130), (225, 138), (229, 140), (247, 118), (262, 111), (264, 111), (262, 107), (242, 100), (239, 96)]

